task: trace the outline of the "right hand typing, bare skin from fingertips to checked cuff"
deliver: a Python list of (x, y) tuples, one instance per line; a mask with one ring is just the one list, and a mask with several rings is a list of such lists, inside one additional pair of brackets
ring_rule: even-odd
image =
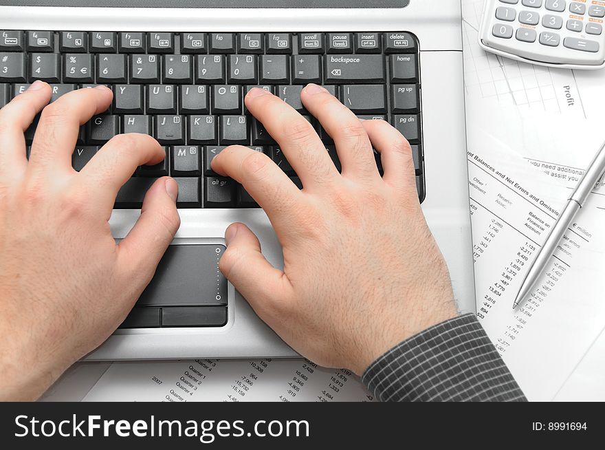
[[(232, 146), (212, 169), (234, 178), (267, 213), (284, 269), (243, 224), (225, 233), (220, 268), (252, 308), (315, 363), (362, 374), (378, 356), (456, 316), (445, 261), (418, 201), (410, 145), (383, 120), (361, 122), (326, 89), (301, 98), (336, 143), (338, 173), (309, 122), (262, 89), (245, 98), (304, 189), (267, 156)], [(380, 177), (372, 147), (380, 151)]]

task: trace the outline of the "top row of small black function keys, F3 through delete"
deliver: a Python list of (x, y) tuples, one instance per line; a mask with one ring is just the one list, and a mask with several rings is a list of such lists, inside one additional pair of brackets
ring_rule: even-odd
[(407, 32), (171, 33), (0, 30), (0, 51), (62, 53), (410, 53)]

